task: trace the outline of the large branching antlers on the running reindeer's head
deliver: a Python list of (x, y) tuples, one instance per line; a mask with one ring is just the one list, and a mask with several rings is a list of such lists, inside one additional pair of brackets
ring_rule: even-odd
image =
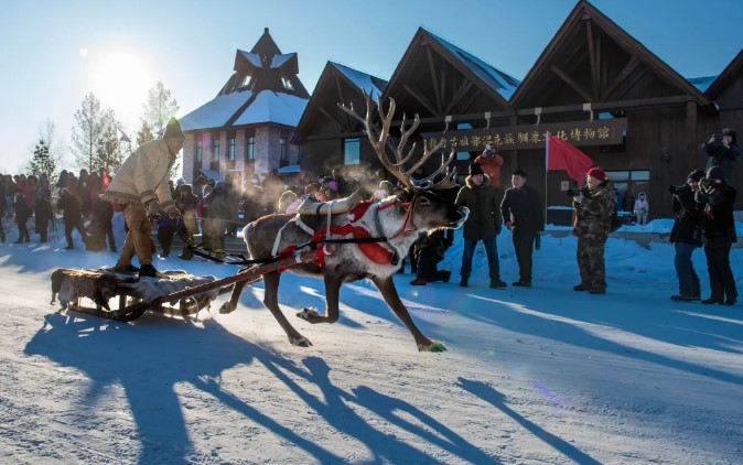
[[(454, 170), (452, 173), (449, 173), (449, 164), (454, 160), (454, 151), (452, 150), (452, 153), (449, 155), (449, 160), (446, 160), (445, 163), (441, 165), (433, 174), (430, 176), (426, 176), (423, 180), (416, 180), (416, 182), (412, 181), (411, 174), (416, 172), (420, 166), (426, 163), (426, 161), (439, 149), (444, 143), (444, 139), (441, 139), (435, 145), (429, 149), (428, 144), (423, 142), (423, 154), (421, 158), (413, 163), (412, 167), (410, 170), (405, 171), (405, 163), (408, 162), (414, 154), (416, 151), (416, 143), (412, 144), (410, 150), (408, 151), (408, 154), (403, 154), (405, 147), (408, 144), (408, 138), (410, 134), (412, 134), (416, 129), (418, 129), (418, 125), (420, 123), (420, 118), (418, 115), (414, 116), (412, 125), (410, 128), (406, 129), (406, 118), (405, 115), (402, 116), (402, 125), (400, 126), (400, 141), (398, 142), (397, 147), (392, 145), (391, 142), (387, 141), (387, 138), (389, 137), (389, 128), (392, 125), (392, 117), (395, 116), (395, 99), (390, 97), (389, 99), (389, 108), (387, 110), (387, 113), (385, 113), (385, 110), (381, 106), (381, 102), (378, 106), (379, 110), (379, 118), (381, 120), (381, 129), (377, 129), (374, 127), (372, 123), (372, 93), (366, 94), (364, 93), (364, 99), (366, 100), (366, 118), (362, 118), (358, 116), (358, 113), (354, 110), (353, 105), (351, 108), (346, 107), (343, 104), (338, 104), (338, 107), (352, 117), (356, 118), (364, 125), (364, 129), (366, 130), (366, 134), (369, 138), (369, 143), (374, 148), (374, 151), (377, 153), (377, 156), (379, 158), (379, 161), (381, 162), (383, 166), (387, 169), (387, 171), (397, 177), (402, 184), (405, 184), (408, 188), (414, 190), (414, 188), (448, 188), (452, 187), (455, 185), (453, 179), (456, 175), (456, 170)], [(395, 162), (392, 162), (389, 156), (387, 156), (387, 153), (385, 151), (385, 148), (389, 144), (390, 150), (392, 153), (395, 153)], [(432, 180), (437, 177), (439, 174), (444, 172), (445, 170), (445, 176), (440, 180), (439, 182), (433, 182)]]

